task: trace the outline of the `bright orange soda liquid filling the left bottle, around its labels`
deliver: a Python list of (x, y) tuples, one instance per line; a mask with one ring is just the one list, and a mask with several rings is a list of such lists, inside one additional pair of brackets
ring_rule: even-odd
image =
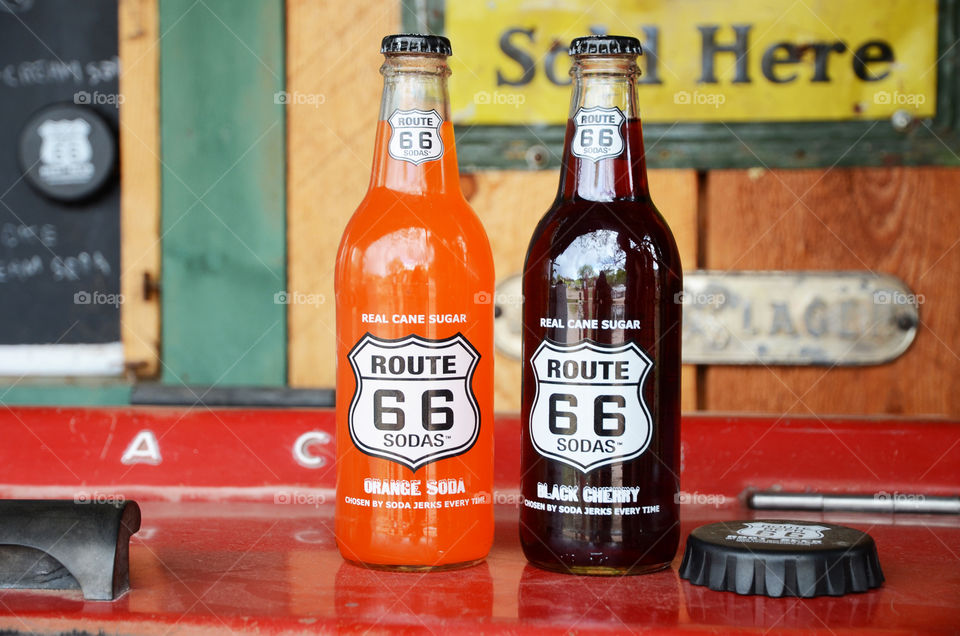
[[(483, 226), (460, 192), (452, 125), (441, 129), (443, 156), (419, 166), (389, 157), (389, 136), (389, 124), (381, 121), (371, 188), (347, 225), (337, 256), (336, 538), (340, 553), (351, 561), (442, 568), (484, 558), (493, 541), (493, 258)], [(364, 322), (362, 314), (379, 314), (388, 322)], [(395, 324), (394, 314), (465, 314), (466, 321)], [(347, 355), (367, 333), (385, 339), (460, 333), (473, 345), (480, 354), (471, 383), (480, 432), (469, 450), (414, 472), (354, 445), (348, 417), (357, 381)], [(423, 388), (431, 387), (416, 390)], [(419, 480), (422, 494), (372, 495), (364, 490), (370, 477)], [(465, 492), (427, 494), (428, 481), (443, 479), (462, 479)], [(391, 509), (353, 505), (348, 498), (439, 501), (441, 506), (444, 500), (481, 498), (483, 503)]]

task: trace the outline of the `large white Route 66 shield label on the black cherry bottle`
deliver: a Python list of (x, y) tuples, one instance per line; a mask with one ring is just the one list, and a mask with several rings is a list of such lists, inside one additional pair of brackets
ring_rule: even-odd
[(540, 455), (589, 472), (640, 456), (653, 420), (643, 383), (653, 362), (636, 344), (540, 343), (530, 439)]

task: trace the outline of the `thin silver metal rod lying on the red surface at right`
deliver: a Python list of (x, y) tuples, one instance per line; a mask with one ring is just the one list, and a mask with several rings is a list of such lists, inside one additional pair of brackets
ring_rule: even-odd
[(806, 492), (754, 492), (747, 505), (755, 510), (822, 510), (960, 514), (960, 497), (878, 492), (874, 495), (822, 495)]

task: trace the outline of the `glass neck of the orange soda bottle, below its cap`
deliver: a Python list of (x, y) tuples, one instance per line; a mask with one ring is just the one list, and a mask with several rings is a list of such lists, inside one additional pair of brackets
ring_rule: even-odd
[(388, 54), (380, 73), (383, 98), (370, 188), (421, 195), (459, 192), (446, 58)]

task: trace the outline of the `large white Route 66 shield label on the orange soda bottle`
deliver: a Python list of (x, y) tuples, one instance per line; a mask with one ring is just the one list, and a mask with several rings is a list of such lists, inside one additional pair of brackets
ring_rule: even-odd
[(480, 354), (463, 335), (384, 340), (368, 333), (347, 357), (357, 380), (349, 429), (358, 449), (416, 471), (473, 447)]

